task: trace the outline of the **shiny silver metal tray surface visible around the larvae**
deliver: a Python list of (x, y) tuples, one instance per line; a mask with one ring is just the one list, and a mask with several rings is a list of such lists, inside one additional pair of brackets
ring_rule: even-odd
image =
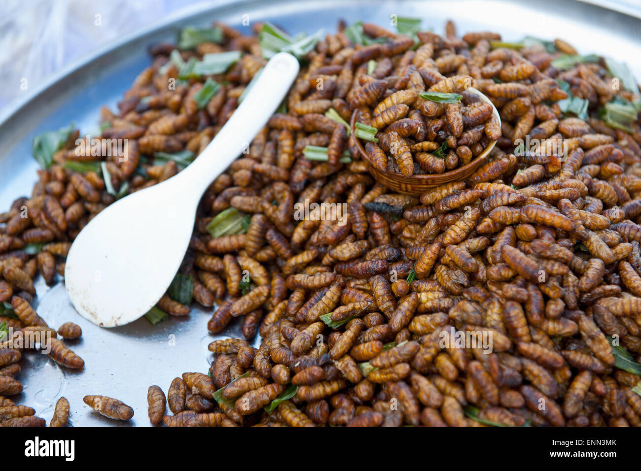
[[(390, 24), (390, 15), (421, 17), (424, 28), (442, 33), (446, 19), (454, 19), (459, 31), (492, 29), (505, 40), (525, 34), (542, 38), (562, 37), (580, 53), (603, 53), (619, 60), (641, 54), (640, 12), (628, 4), (536, 0), (271, 0), (230, 1), (197, 4), (162, 24), (97, 51), (82, 62), (63, 70), (48, 83), (29, 92), (21, 104), (0, 117), (0, 208), (22, 194), (29, 194), (35, 182), (37, 163), (31, 158), (31, 140), (43, 131), (74, 122), (83, 135), (97, 129), (99, 108), (114, 109), (123, 92), (140, 70), (150, 63), (147, 46), (173, 40), (179, 28), (204, 26), (223, 21), (239, 29), (243, 15), (250, 22), (272, 21), (292, 33), (313, 33), (319, 28), (334, 31), (337, 20), (372, 21)], [(605, 8), (607, 7), (607, 8)], [(617, 10), (617, 11), (615, 11)], [(629, 63), (641, 77), (641, 63)], [(31, 84), (33, 85), (33, 84)], [(131, 283), (135, 283), (131, 280)], [(147, 388), (158, 384), (166, 392), (172, 379), (185, 371), (207, 370), (211, 355), (207, 345), (215, 338), (240, 336), (232, 325), (219, 336), (208, 335), (206, 323), (212, 309), (192, 309), (187, 319), (171, 318), (153, 327), (147, 320), (115, 329), (101, 329), (79, 317), (72, 308), (62, 283), (47, 287), (37, 283), (37, 310), (51, 326), (72, 320), (83, 329), (71, 348), (85, 359), (81, 372), (63, 370), (46, 355), (26, 353), (19, 379), (24, 392), (13, 398), (36, 409), (47, 419), (53, 404), (64, 395), (71, 403), (72, 426), (149, 426)], [(113, 293), (117, 295), (117, 293)], [(255, 339), (258, 343), (260, 340)], [(133, 420), (115, 422), (85, 406), (87, 394), (117, 397), (135, 410)]]

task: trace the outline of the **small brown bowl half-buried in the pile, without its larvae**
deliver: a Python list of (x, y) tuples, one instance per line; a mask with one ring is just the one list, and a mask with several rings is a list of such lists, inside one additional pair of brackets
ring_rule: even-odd
[[(479, 92), (479, 90), (476, 90), (476, 88), (470, 87), (467, 89), (467, 91), (471, 92), (474, 95), (477, 95), (482, 101), (485, 101), (485, 103), (489, 103), (492, 105), (492, 114), (494, 115), (495, 119), (499, 120), (500, 125), (501, 117), (499, 116), (499, 112), (495, 108), (492, 101), (490, 101), (488, 97)], [(352, 113), (352, 119), (350, 120), (349, 126), (351, 128), (351, 133), (353, 133), (355, 136), (356, 111)], [(404, 176), (403, 174), (395, 172), (381, 172), (380, 170), (376, 169), (376, 167), (374, 167), (374, 165), (372, 165), (372, 163), (370, 162), (367, 153), (365, 153), (365, 149), (363, 149), (363, 145), (360, 143), (360, 140), (358, 138), (355, 138), (354, 141), (356, 142), (356, 147), (358, 147), (358, 151), (365, 161), (367, 170), (369, 170), (369, 173), (372, 175), (372, 177), (374, 177), (374, 179), (376, 179), (378, 183), (381, 183), (382, 185), (387, 186), (387, 188), (390, 188), (390, 190), (406, 195), (420, 195), (431, 188), (435, 188), (435, 186), (444, 185), (445, 183), (450, 183), (451, 181), (461, 181), (463, 179), (466, 179), (471, 174), (476, 172), (476, 170), (481, 167), (481, 165), (487, 162), (490, 156), (490, 152), (492, 152), (492, 149), (494, 149), (494, 145), (496, 144), (496, 141), (490, 141), (490, 144), (483, 150), (481, 154), (470, 161), (470, 163), (467, 163), (462, 167), (458, 167), (458, 169), (450, 170), (449, 172), (444, 172), (442, 174), (415, 174)]]

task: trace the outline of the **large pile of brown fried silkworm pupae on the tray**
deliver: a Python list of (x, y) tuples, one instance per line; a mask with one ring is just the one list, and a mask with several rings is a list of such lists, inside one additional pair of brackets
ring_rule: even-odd
[[(78, 167), (70, 161), (105, 160), (79, 157), (76, 131), (40, 172), (31, 197), (0, 215), (1, 301), (14, 308), (29, 301), (38, 268), (53, 282), (54, 257), (62, 274), (69, 242), (113, 201), (109, 184), (126, 194), (170, 178), (179, 170), (176, 160), (155, 163), (154, 153), (187, 149), (197, 155), (221, 129), (266, 60), (257, 36), (217, 28), (223, 33), (218, 44), (202, 42), (179, 53), (178, 63), (188, 63), (203, 54), (242, 51), (229, 70), (209, 77), (220, 87), (206, 103), (199, 100), (205, 76), (167, 89), (180, 73), (169, 62), (176, 62), (176, 47), (154, 46), (153, 65), (126, 92), (118, 112), (103, 113), (103, 138), (129, 140), (128, 160), (106, 159), (110, 181), (92, 170), (71, 170)], [(555, 67), (553, 60), (576, 54), (562, 40), (519, 49), (502, 44), (496, 33), (457, 37), (451, 23), (445, 37), (361, 28), (362, 44), (354, 44), (342, 24), (306, 53), (284, 109), (249, 153), (215, 179), (199, 209), (181, 274), (192, 277), (196, 302), (222, 303), (210, 333), (224, 333), (233, 318), (243, 317), (245, 339), (260, 333), (260, 348), (245, 339), (212, 342), (208, 374), (176, 377), (167, 399), (158, 386), (149, 388), (151, 422), (641, 424), (633, 357), (641, 353), (641, 226), (635, 222), (641, 214), (641, 128), (636, 116), (627, 131), (597, 118), (600, 106), (637, 102), (638, 94), (613, 90), (599, 58), (577, 56)], [(499, 109), (500, 137), (487, 124), (487, 110), (479, 110), (483, 105), (465, 94), (465, 83)], [(429, 90), (460, 94), (462, 103), (419, 97)], [(587, 103), (589, 115), (563, 115), (568, 99)], [(388, 160), (381, 169), (417, 170), (403, 160), (406, 154), (388, 153), (390, 140), (410, 149), (422, 171), (428, 171), (422, 161), (442, 160), (439, 168), (451, 169), (478, 155), (488, 140), (497, 145), (466, 181), (420, 198), (392, 194), (367, 173), (342, 122), (354, 110), (359, 122), (376, 128), (378, 143), (363, 144)], [(516, 151), (526, 136), (540, 146)], [(430, 154), (444, 142), (451, 150)], [(326, 148), (326, 160), (307, 158), (308, 146)], [(319, 220), (311, 211), (294, 219), (294, 204), (305, 201), (335, 208), (345, 203), (347, 211), (344, 217), (330, 211)], [(29, 208), (27, 219), (20, 217), (21, 206)], [(213, 218), (229, 208), (250, 215), (248, 227), (213, 238)], [(37, 256), (22, 250), (34, 243), (46, 244)], [(22, 307), (15, 310), (20, 321), (1, 320), (42, 325), (22, 315)], [(158, 308), (172, 316), (190, 312), (169, 295)], [(466, 333), (491, 339), (491, 352), (482, 342), (459, 345)], [(620, 346), (612, 347), (609, 338)], [(9, 357), (2, 351), (0, 358)], [(12, 379), (19, 368), (0, 366), (0, 394), (18, 392), (11, 385), (19, 384)], [(114, 401), (99, 399), (85, 401), (102, 412)], [(4, 401), (0, 423), (33, 425)], [(116, 412), (106, 415), (131, 417), (123, 408), (115, 401)]]

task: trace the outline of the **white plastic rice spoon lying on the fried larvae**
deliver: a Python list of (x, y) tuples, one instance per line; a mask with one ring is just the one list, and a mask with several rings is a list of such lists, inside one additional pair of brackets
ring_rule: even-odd
[(85, 226), (65, 265), (67, 293), (82, 317), (122, 326), (158, 302), (185, 256), (203, 192), (265, 126), (298, 70), (294, 56), (276, 54), (191, 165), (113, 203)]

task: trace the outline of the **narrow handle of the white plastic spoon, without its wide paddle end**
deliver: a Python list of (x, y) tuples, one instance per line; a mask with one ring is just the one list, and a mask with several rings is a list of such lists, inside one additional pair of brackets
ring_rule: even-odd
[(244, 149), (287, 96), (298, 74), (299, 64), (288, 53), (274, 55), (260, 72), (251, 90), (212, 142), (192, 164), (174, 176), (183, 190), (198, 198)]

